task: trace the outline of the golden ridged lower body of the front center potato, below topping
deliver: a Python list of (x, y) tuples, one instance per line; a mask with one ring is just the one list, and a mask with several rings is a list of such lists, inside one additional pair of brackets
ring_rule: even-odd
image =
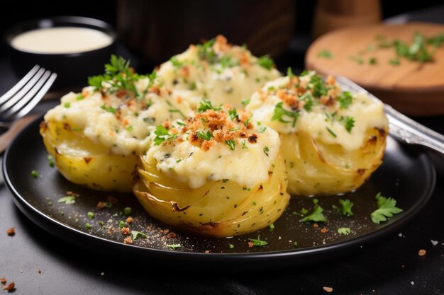
[(238, 236), (262, 229), (281, 216), (289, 202), (284, 161), (277, 158), (269, 178), (255, 187), (233, 180), (208, 180), (192, 189), (167, 178), (154, 159), (140, 156), (133, 192), (155, 219), (204, 236)]

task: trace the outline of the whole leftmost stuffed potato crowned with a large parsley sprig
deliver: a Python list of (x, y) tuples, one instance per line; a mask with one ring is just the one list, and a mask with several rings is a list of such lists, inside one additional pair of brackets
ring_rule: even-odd
[(40, 125), (48, 153), (67, 180), (96, 190), (131, 191), (138, 155), (150, 127), (192, 110), (154, 76), (133, 74), (112, 57), (107, 74), (92, 77), (82, 93), (68, 93)]

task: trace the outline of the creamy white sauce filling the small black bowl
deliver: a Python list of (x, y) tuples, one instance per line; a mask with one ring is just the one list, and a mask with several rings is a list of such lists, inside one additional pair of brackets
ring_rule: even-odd
[(24, 52), (66, 54), (106, 47), (113, 39), (91, 28), (60, 27), (30, 30), (11, 40), (11, 46)]

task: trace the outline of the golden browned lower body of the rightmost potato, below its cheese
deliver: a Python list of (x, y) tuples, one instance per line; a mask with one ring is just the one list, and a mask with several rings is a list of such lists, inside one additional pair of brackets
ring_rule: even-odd
[(387, 129), (368, 129), (360, 149), (316, 141), (309, 134), (281, 134), (291, 195), (335, 195), (356, 190), (382, 163)]

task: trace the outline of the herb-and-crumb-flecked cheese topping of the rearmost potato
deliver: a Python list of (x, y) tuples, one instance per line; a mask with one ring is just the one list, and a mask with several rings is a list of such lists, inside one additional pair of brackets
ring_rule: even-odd
[(273, 64), (260, 64), (260, 59), (245, 47), (229, 45), (218, 36), (211, 47), (191, 45), (172, 57), (160, 66), (157, 75), (166, 86), (189, 100), (193, 108), (202, 98), (216, 105), (229, 103), (240, 108), (241, 100), (280, 76)]

